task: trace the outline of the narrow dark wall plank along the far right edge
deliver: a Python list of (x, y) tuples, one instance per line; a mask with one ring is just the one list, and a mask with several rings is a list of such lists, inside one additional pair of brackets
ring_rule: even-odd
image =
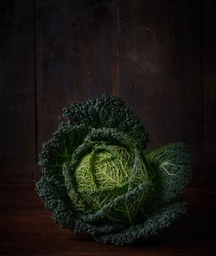
[(203, 157), (202, 181), (216, 180), (216, 2), (203, 2)]

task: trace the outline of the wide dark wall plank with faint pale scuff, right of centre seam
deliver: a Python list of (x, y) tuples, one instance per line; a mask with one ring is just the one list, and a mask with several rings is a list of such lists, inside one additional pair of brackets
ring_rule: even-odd
[(150, 134), (183, 141), (201, 163), (200, 1), (119, 1), (120, 93)]

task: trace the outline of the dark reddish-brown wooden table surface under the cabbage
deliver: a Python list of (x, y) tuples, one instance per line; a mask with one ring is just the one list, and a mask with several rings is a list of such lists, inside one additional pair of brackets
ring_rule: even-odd
[(136, 246), (110, 246), (60, 228), (43, 208), (34, 183), (3, 183), (0, 255), (216, 255), (216, 187), (191, 185), (189, 214)]

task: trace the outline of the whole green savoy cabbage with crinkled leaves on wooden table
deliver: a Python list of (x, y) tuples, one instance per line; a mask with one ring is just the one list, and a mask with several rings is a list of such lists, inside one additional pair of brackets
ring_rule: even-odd
[(116, 96), (72, 103), (63, 117), (43, 144), (36, 183), (61, 227), (124, 246), (186, 214), (178, 199), (191, 176), (185, 144), (144, 152), (149, 134)]

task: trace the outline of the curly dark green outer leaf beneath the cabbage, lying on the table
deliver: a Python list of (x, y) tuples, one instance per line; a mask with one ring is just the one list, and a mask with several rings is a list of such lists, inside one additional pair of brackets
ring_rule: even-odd
[(144, 240), (150, 235), (159, 233), (164, 227), (169, 227), (175, 221), (178, 221), (182, 215), (187, 213), (187, 203), (174, 202), (166, 207), (158, 208), (143, 223), (124, 227), (99, 226), (89, 224), (83, 221), (75, 220), (73, 232), (90, 234), (99, 242), (113, 244), (116, 246), (131, 245), (138, 240)]

